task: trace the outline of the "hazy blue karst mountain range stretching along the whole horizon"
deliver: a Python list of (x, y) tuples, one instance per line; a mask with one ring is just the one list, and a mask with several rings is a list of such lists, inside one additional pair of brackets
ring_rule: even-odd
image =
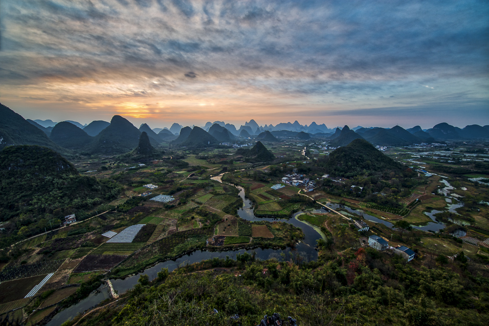
[[(461, 129), (440, 123), (428, 130), (415, 126), (407, 130), (400, 126), (392, 128), (348, 126), (329, 129), (325, 124), (311, 125), (279, 123), (276, 126), (259, 126), (254, 120), (237, 129), (224, 121), (208, 122), (202, 128), (183, 127), (174, 123), (170, 129), (151, 129), (143, 123), (139, 129), (127, 119), (115, 115), (111, 122), (92, 121), (81, 125), (74, 121), (55, 123), (52, 120), (25, 120), (6, 106), (0, 105), (0, 149), (8, 145), (41, 145), (56, 151), (63, 149), (88, 153), (120, 154), (138, 146), (141, 132), (146, 132), (153, 147), (163, 142), (172, 146), (207, 147), (237, 139), (256, 139), (263, 142), (278, 142), (281, 139), (322, 138), (332, 146), (345, 146), (355, 139), (365, 139), (373, 145), (406, 146), (458, 140), (489, 139), (489, 126), (469, 125)], [(156, 131), (158, 132), (156, 132)]]

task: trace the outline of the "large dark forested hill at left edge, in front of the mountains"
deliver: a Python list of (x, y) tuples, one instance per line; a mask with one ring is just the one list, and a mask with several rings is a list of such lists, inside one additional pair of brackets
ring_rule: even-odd
[(24, 225), (46, 214), (60, 218), (78, 209), (88, 210), (119, 193), (110, 181), (82, 176), (59, 153), (40, 146), (4, 148), (0, 152), (0, 180), (1, 220), (22, 214), (24, 219), (32, 219), (22, 222)]

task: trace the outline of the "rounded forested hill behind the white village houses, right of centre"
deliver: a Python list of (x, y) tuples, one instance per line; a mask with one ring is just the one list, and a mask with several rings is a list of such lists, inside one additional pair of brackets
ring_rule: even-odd
[(373, 174), (386, 170), (399, 171), (402, 165), (378, 151), (365, 139), (355, 139), (329, 155), (326, 171), (335, 176)]

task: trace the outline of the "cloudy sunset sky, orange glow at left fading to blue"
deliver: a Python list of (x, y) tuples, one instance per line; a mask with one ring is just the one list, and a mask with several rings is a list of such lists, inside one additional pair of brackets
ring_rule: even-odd
[(136, 127), (489, 124), (489, 2), (2, 0), (0, 102)]

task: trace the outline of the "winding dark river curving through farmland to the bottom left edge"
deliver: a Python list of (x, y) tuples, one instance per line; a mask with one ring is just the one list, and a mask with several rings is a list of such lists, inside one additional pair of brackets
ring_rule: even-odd
[[(212, 177), (211, 179), (219, 181), (222, 183), (222, 175), (217, 175)], [(230, 184), (231, 185), (231, 184)], [(199, 262), (203, 260), (213, 259), (213, 258), (222, 258), (225, 259), (226, 256), (229, 258), (235, 259), (237, 254), (243, 254), (247, 252), (249, 254), (255, 255), (255, 258), (261, 260), (267, 260), (275, 258), (277, 260), (302, 260), (302, 261), (312, 261), (317, 259), (317, 251), (314, 249), (316, 246), (316, 240), (322, 238), (322, 234), (320, 231), (315, 230), (311, 225), (306, 224), (298, 220), (296, 217), (304, 212), (298, 212), (293, 215), (292, 218), (289, 219), (276, 219), (276, 218), (267, 218), (267, 217), (256, 217), (253, 214), (252, 203), (249, 199), (244, 196), (244, 188), (240, 186), (232, 185), (238, 188), (239, 196), (243, 199), (243, 207), (238, 210), (239, 217), (249, 220), (249, 221), (281, 221), (290, 223), (294, 226), (300, 227), (304, 232), (304, 239), (296, 244), (295, 248), (287, 248), (287, 249), (253, 249), (253, 250), (228, 250), (228, 251), (206, 251), (206, 250), (196, 250), (188, 255), (182, 256), (175, 261), (163, 261), (157, 263), (155, 266), (149, 267), (145, 269), (143, 272), (138, 273), (136, 275), (127, 277), (125, 279), (111, 279), (112, 286), (118, 294), (122, 294), (127, 290), (133, 288), (133, 286), (137, 283), (139, 277), (143, 274), (148, 275), (150, 280), (156, 279), (157, 273), (161, 271), (162, 268), (168, 268), (169, 272), (177, 269), (180, 266), (185, 264), (192, 264), (194, 262)], [(313, 213), (324, 213), (323, 209), (315, 210)], [(100, 287), (92, 292), (89, 297), (80, 301), (78, 304), (74, 304), (69, 308), (57, 313), (53, 319), (47, 323), (47, 326), (60, 326), (68, 319), (73, 319), (75, 315), (78, 313), (83, 313), (85, 310), (93, 307), (95, 304), (99, 304), (105, 299), (109, 298), (109, 289), (106, 284), (100, 285)]]

